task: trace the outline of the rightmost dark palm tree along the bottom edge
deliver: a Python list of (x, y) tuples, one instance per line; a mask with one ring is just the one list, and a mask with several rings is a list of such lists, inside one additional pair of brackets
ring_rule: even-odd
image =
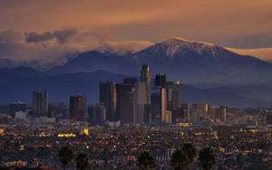
[(204, 147), (199, 151), (198, 162), (199, 166), (201, 166), (204, 170), (209, 170), (213, 165), (216, 165), (216, 156), (209, 146)]

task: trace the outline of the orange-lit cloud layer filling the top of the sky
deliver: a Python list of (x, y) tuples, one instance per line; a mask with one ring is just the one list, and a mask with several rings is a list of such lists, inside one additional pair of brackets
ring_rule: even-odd
[[(270, 45), (266, 36), (272, 29), (272, 1), (268, 0), (63, 2), (64, 0), (3, 0), (0, 5), (0, 30), (13, 28), (22, 32), (34, 32), (43, 39), (44, 36), (47, 37), (44, 35), (47, 30), (111, 29), (117, 37), (121, 36), (126, 40), (158, 41), (180, 36), (223, 45), (231, 44), (237, 48)], [(267, 39), (257, 44), (258, 35), (264, 35), (263, 39)], [(248, 36), (251, 36), (252, 42), (240, 41)], [(52, 40), (56, 38), (49, 41)], [(67, 42), (65, 38), (57, 40), (60, 43)], [(257, 40), (256, 43), (253, 43), (254, 40)]]

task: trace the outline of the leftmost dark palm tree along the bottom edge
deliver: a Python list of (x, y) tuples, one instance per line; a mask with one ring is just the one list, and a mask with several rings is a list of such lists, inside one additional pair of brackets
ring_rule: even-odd
[(64, 170), (66, 169), (66, 165), (73, 162), (73, 150), (69, 146), (63, 146), (59, 150), (58, 156), (60, 157)]

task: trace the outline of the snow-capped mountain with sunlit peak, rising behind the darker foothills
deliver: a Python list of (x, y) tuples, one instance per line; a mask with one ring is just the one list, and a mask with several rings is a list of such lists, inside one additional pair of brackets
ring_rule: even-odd
[(169, 80), (186, 83), (266, 84), (272, 83), (272, 64), (252, 56), (239, 55), (207, 42), (170, 38), (127, 55), (111, 52), (83, 52), (50, 73), (105, 70), (139, 74), (142, 64), (152, 73), (165, 72)]

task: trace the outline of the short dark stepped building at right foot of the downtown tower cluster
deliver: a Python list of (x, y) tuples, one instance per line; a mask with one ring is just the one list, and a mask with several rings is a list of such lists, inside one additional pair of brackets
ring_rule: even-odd
[(175, 109), (173, 114), (174, 123), (190, 123), (189, 103), (182, 102), (180, 109)]

